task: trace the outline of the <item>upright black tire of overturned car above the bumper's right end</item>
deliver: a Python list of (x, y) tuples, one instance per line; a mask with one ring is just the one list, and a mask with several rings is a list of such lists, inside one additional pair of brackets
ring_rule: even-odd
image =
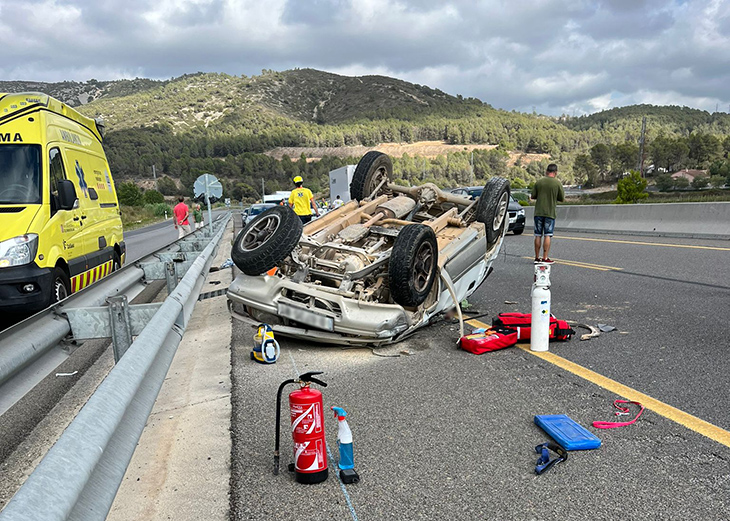
[(424, 224), (401, 228), (390, 253), (390, 296), (405, 307), (421, 305), (438, 272), (438, 244), (433, 229)]

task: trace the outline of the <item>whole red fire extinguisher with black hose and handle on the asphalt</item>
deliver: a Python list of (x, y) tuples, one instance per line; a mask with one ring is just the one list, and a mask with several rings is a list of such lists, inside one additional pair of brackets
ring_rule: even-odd
[[(289, 384), (299, 384), (299, 388), (289, 393), (292, 438), (294, 439), (295, 479), (299, 483), (320, 483), (327, 479), (327, 445), (324, 440), (324, 415), (322, 413), (322, 393), (312, 389), (310, 384), (322, 387), (327, 384), (311, 372), (297, 379), (286, 380), (279, 386), (276, 395), (276, 446), (274, 447), (274, 474), (279, 473), (279, 433), (281, 421), (281, 393)], [(291, 470), (292, 465), (290, 465)]]

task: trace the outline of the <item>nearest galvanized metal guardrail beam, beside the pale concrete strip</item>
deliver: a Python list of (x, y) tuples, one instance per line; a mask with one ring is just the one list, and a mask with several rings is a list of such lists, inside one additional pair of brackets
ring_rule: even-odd
[[(229, 219), (230, 214), (127, 353), (0, 512), (1, 521), (106, 518)], [(129, 278), (135, 277), (137, 274)], [(66, 320), (49, 316), (51, 321), (65, 323), (47, 326), (56, 336), (68, 333)]]

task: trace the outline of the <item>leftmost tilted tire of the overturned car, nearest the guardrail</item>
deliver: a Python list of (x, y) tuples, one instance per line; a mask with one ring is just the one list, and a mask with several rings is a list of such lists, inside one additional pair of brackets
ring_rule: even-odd
[(246, 275), (261, 275), (283, 261), (302, 237), (302, 221), (288, 206), (275, 206), (244, 226), (231, 259)]

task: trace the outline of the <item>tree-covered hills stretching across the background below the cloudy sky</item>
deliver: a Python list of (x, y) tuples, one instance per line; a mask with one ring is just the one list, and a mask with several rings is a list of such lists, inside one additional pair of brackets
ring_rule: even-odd
[[(645, 164), (730, 174), (730, 116), (686, 107), (637, 105), (549, 118), (395, 78), (313, 69), (167, 81), (0, 82), (0, 90), (42, 90), (104, 118), (105, 148), (119, 179), (149, 180), (154, 167), (188, 191), (209, 172), (234, 198), (256, 197), (262, 178), (267, 191), (288, 188), (297, 174), (315, 191), (326, 189), (330, 169), (375, 148), (395, 156), (395, 174), (404, 182), (450, 187), (503, 175), (519, 186), (556, 162), (565, 183), (613, 183), (636, 167), (644, 115)], [(180, 189), (168, 181), (169, 191)]]

